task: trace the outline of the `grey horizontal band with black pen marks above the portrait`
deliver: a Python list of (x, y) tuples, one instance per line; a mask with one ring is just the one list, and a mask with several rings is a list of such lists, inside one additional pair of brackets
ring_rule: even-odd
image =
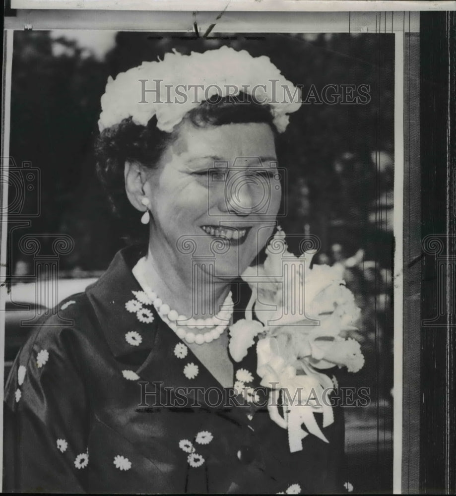
[[(271, 22), (271, 15), (273, 21)], [(218, 32), (261, 33), (395, 33), (419, 32), (419, 12), (135, 12), (79, 10), (18, 10), (5, 17), (5, 29), (109, 29), (201, 33), (215, 24)], [(255, 29), (252, 29), (255, 26)]]

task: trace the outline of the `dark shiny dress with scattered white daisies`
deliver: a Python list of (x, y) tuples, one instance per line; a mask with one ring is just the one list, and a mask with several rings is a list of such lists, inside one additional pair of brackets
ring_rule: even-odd
[[(220, 384), (153, 307), (137, 313), (131, 268), (142, 254), (117, 253), (20, 351), (5, 390), (3, 490), (345, 492), (341, 409), (322, 429), (329, 444), (309, 435), (290, 453), (287, 431), (264, 406), (242, 398), (220, 405)], [(235, 320), (250, 296), (237, 283)], [(249, 386), (259, 384), (255, 346), (234, 363), (235, 374), (241, 369), (253, 377)]]

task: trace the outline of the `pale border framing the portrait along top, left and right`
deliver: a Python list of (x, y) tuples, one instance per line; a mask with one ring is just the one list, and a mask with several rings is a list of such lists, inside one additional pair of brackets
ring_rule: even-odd
[[(264, 0), (263, 0), (264, 1)], [(452, 2), (456, 3), (456, 2)], [(9, 122), (11, 96), (12, 40), (16, 29), (109, 29), (123, 31), (193, 32), (195, 19), (201, 26), (208, 26), (214, 16), (200, 12), (73, 12), (71, 16), (58, 11), (18, 12), (14, 18), (5, 19), (5, 64), (3, 76), (3, 157), (9, 156)], [(94, 15), (95, 14), (95, 15)], [(127, 14), (127, 15), (126, 15)], [(119, 17), (120, 15), (120, 17)], [(404, 35), (419, 32), (419, 14), (416, 12), (226, 12), (217, 21), (213, 32), (233, 33), (394, 33), (394, 407), (393, 407), (393, 493), (401, 494), (402, 487), (402, 381), (403, 381), (403, 179), (404, 179)], [(27, 22), (33, 19), (32, 22)], [(163, 22), (165, 20), (166, 22)], [(109, 27), (108, 27), (109, 26)], [(2, 171), (4, 174), (4, 171)], [(1, 204), (7, 205), (7, 182), (2, 183)], [(6, 225), (1, 224), (0, 275), (6, 273)], [(4, 309), (6, 288), (0, 287), (0, 309)], [(4, 311), (0, 311), (0, 376), (4, 369)], [(1, 398), (3, 392), (1, 392)], [(0, 412), (2, 426), (3, 410)], [(2, 428), (0, 438), (2, 441)], [(2, 446), (2, 442), (1, 442)], [(2, 452), (0, 462), (2, 461)], [(2, 464), (0, 463), (0, 470)], [(0, 482), (1, 484), (1, 482)]]

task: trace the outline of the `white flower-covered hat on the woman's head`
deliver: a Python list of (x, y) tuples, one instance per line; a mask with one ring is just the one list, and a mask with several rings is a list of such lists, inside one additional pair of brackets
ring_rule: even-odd
[(190, 110), (214, 95), (236, 97), (241, 92), (267, 104), (279, 132), (288, 114), (301, 106), (299, 88), (287, 81), (269, 57), (252, 57), (246, 50), (226, 46), (204, 53), (182, 55), (173, 49), (162, 61), (142, 62), (113, 79), (108, 78), (98, 121), (102, 131), (123, 119), (172, 132)]

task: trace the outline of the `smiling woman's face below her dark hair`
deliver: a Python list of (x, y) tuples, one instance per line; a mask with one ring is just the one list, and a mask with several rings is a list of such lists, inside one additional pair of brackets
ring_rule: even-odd
[(276, 160), (268, 124), (195, 127), (184, 121), (144, 185), (152, 253), (189, 264), (185, 237), (195, 242), (194, 258), (213, 257), (215, 250), (216, 278), (240, 275), (275, 226), (281, 198)]

